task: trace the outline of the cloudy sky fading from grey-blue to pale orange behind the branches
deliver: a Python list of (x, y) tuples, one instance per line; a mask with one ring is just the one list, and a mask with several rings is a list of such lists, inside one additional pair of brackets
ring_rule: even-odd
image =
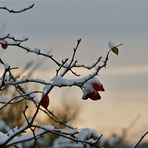
[[(80, 100), (82, 92), (73, 91), (75, 88), (69, 90), (67, 96), (69, 99), (75, 96), (83, 106), (77, 126), (94, 127), (105, 134), (119, 132), (138, 116), (132, 132), (139, 138), (148, 129), (148, 1), (0, 0), (0, 6), (15, 10), (32, 3), (35, 3), (34, 8), (21, 14), (0, 10), (0, 23), (7, 24), (7, 33), (18, 38), (29, 37), (24, 43), (26, 46), (43, 52), (50, 50), (59, 61), (72, 55), (79, 38), (82, 42), (76, 58), (85, 64), (104, 57), (109, 50), (108, 41), (123, 43), (119, 56), (111, 54), (107, 68), (100, 72), (99, 78), (106, 90), (101, 101), (84, 102)], [(12, 47), (1, 50), (0, 56), (20, 68), (31, 59), (42, 60)], [(38, 75), (42, 73), (44, 78), (50, 79), (54, 67), (52, 62), (45, 61)], [(52, 96), (60, 99), (63, 91), (55, 90)]]

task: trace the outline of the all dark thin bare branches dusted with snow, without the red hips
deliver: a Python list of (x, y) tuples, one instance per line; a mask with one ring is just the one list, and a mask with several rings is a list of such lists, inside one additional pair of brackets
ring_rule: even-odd
[[(6, 10), (9, 13), (22, 13), (22, 12), (32, 9), (33, 7), (34, 7), (34, 4), (32, 4), (29, 7), (24, 8), (22, 10), (10, 10), (7, 7), (0, 7), (0, 9)], [(95, 132), (90, 130), (90, 132), (87, 132), (87, 133), (89, 133), (88, 134), (89, 136), (87, 136), (87, 134), (86, 134), (85, 138), (82, 138), (80, 136), (80, 132), (83, 131), (82, 129), (76, 129), (76, 128), (68, 125), (67, 123), (60, 121), (60, 119), (48, 108), (46, 108), (46, 109), (42, 108), (41, 101), (55, 87), (77, 86), (77, 87), (81, 88), (82, 91), (84, 91), (84, 84), (88, 80), (95, 78), (99, 74), (100, 70), (107, 66), (107, 62), (108, 62), (108, 58), (109, 58), (109, 54), (111, 52), (111, 49), (107, 52), (104, 60), (102, 60), (102, 57), (99, 57), (95, 61), (95, 63), (88, 66), (85, 64), (79, 64), (78, 61), (76, 60), (76, 53), (77, 53), (79, 45), (81, 43), (81, 39), (77, 40), (76, 46), (73, 48), (72, 56), (70, 58), (66, 57), (63, 60), (59, 60), (60, 62), (58, 60), (56, 60), (53, 57), (53, 55), (50, 55), (47, 53), (45, 54), (44, 52), (42, 52), (38, 48), (32, 49), (32, 48), (24, 46), (23, 43), (27, 40), (28, 40), (28, 38), (17, 39), (15, 36), (11, 36), (9, 33), (6, 36), (0, 38), (0, 44), (4, 45), (4, 41), (6, 41), (8, 47), (9, 46), (18, 47), (19, 49), (24, 50), (27, 53), (34, 53), (36, 55), (44, 57), (44, 59), (49, 59), (50, 61), (53, 61), (54, 64), (57, 66), (56, 71), (55, 71), (55, 76), (53, 78), (48, 79), (48, 81), (42, 80), (40, 78), (38, 78), (38, 79), (29, 78), (29, 77), (31, 77), (30, 75), (28, 75), (28, 77), (26, 77), (26, 78), (20, 78), (18, 75), (15, 76), (12, 73), (12, 70), (17, 69), (17, 67), (11, 67), (8, 64), (6, 64), (2, 59), (0, 59), (0, 64), (2, 64), (4, 67), (4, 71), (3, 71), (2, 76), (0, 78), (0, 80), (1, 80), (0, 91), (5, 90), (10, 85), (13, 85), (15, 88), (16, 94), (17, 94), (17, 95), (16, 94), (13, 95), (13, 97), (11, 97), (11, 99), (9, 99), (9, 98), (6, 100), (2, 99), (0, 101), (0, 104), (2, 104), (2, 106), (0, 107), (0, 111), (3, 110), (7, 105), (12, 105), (12, 104), (21, 102), (25, 99), (30, 100), (35, 105), (35, 110), (33, 112), (33, 115), (31, 116), (30, 120), (28, 119), (28, 117), (26, 115), (26, 111), (28, 108), (28, 106), (26, 105), (25, 110), (23, 112), (21, 112), (21, 115), (23, 113), (23, 115), (25, 117), (25, 124), (22, 125), (19, 129), (17, 129), (12, 134), (9, 134), (9, 132), (8, 132), (8, 138), (4, 139), (5, 141), (3, 143), (1, 143), (0, 147), (12, 146), (14, 144), (24, 142), (24, 141), (29, 141), (29, 140), (34, 140), (34, 144), (35, 144), (36, 140), (38, 138), (40, 138), (41, 135), (46, 134), (46, 133), (53, 133), (58, 136), (62, 136), (62, 137), (65, 137), (69, 140), (72, 140), (76, 143), (82, 143), (82, 145), (84, 147), (87, 145), (89, 145), (90, 147), (99, 147), (97, 144), (98, 144), (99, 140), (102, 138), (102, 135), (99, 137), (98, 134), (95, 135), (94, 134)], [(118, 47), (120, 45), (122, 45), (122, 44), (119, 44), (116, 47)], [(2, 46), (2, 48), (6, 49), (7, 47), (5, 48), (4, 46)], [(78, 68), (93, 70), (93, 72), (88, 73), (86, 76), (83, 76), (80, 78), (79, 77), (80, 75), (75, 72), (75, 69), (78, 69)], [(33, 70), (36, 70), (36, 67), (34, 67)], [(24, 70), (21, 73), (19, 73), (19, 75), (21, 75), (23, 72), (24, 72)], [(69, 73), (72, 73), (73, 76), (77, 76), (76, 79), (66, 79), (66, 74), (69, 74)], [(7, 78), (8, 78), (8, 80), (5, 81)], [(23, 88), (23, 84), (28, 84), (28, 83), (34, 83), (36, 85), (47, 86), (47, 89), (45, 90), (45, 92), (44, 92), (44, 89), (43, 89), (43, 91), (26, 91)], [(34, 100), (34, 97), (31, 97), (31, 96), (32, 96), (32, 94), (38, 94), (38, 93), (42, 93), (43, 95), (40, 98), (39, 103), (36, 103), (36, 100)], [(54, 123), (59, 124), (64, 128), (63, 129), (55, 128), (52, 125), (47, 125), (47, 126), (36, 125), (35, 121), (37, 120), (36, 118), (37, 118), (37, 115), (39, 112), (42, 112), (43, 114), (47, 115), (48, 118), (50, 118), (52, 121), (54, 121)], [(22, 134), (26, 130), (31, 130), (31, 134), (30, 135), (28, 133)], [(72, 132), (68, 132), (68, 130), (70, 130)], [(138, 141), (138, 143), (136, 144), (136, 146), (134, 148), (136, 148), (140, 144), (140, 142), (143, 140), (143, 138), (147, 134), (148, 134), (148, 132), (146, 132), (142, 136), (142, 138)], [(26, 136), (26, 138), (24, 138), (25, 136)]]

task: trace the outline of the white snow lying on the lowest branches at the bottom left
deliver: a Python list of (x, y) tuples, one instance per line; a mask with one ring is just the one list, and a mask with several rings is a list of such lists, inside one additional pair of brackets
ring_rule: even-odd
[[(0, 122), (0, 125), (5, 125), (5, 123)], [(18, 128), (15, 127), (13, 129), (10, 129), (9, 132), (7, 134), (4, 134), (2, 132), (0, 132), (0, 144), (3, 144), (5, 141), (7, 141), (8, 138), (10, 138), (11, 136), (13, 136), (14, 134), (24, 130), (27, 127), (27, 124), (23, 125), (22, 127)], [(41, 126), (39, 130), (35, 131), (35, 135), (38, 137), (44, 133), (46, 133), (47, 131), (56, 131), (59, 133), (62, 133), (64, 135), (77, 135), (79, 140), (88, 140), (88, 142), (95, 142), (95, 140), (97, 138), (99, 138), (99, 134), (94, 130), (94, 129), (89, 129), (89, 128), (84, 128), (80, 131), (76, 130), (76, 129), (69, 129), (69, 130), (65, 130), (65, 129), (56, 129), (54, 126), (52, 125), (44, 125)], [(21, 136), (16, 136), (14, 137), (9, 143), (8, 145), (14, 144), (14, 143), (21, 143), (24, 141), (30, 141), (34, 139), (34, 135), (33, 133), (27, 133), (25, 135), (21, 135)], [(100, 141), (99, 141), (100, 143)], [(21, 147), (21, 144), (20, 144)], [(54, 144), (52, 146), (53, 148), (65, 148), (65, 147), (83, 147), (83, 143), (81, 142), (74, 142), (70, 139), (67, 138), (63, 138), (63, 137), (58, 137), (55, 141)], [(90, 147), (89, 145), (87, 145), (87, 147)]]

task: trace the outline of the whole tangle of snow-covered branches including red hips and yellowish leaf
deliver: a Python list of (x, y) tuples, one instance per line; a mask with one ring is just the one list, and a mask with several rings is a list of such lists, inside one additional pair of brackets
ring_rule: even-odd
[[(7, 7), (0, 7), (0, 9), (7, 10), (10, 13), (21, 13), (34, 7), (34, 4), (24, 8), (22, 10), (10, 10)], [(5, 25), (2, 26), (2, 32), (5, 30)], [(34, 53), (37, 56), (41, 56), (44, 59), (52, 61), (55, 64), (55, 75), (49, 77), (48, 80), (39, 78), (33, 78), (31, 75), (23, 76), (23, 74), (13, 73), (13, 70), (17, 72), (18, 67), (11, 67), (11, 64), (7, 64), (0, 58), (0, 64), (3, 66), (2, 75), (0, 77), (0, 93), (6, 92), (7, 96), (0, 96), (0, 112), (3, 112), (6, 107), (13, 106), (23, 102), (31, 102), (32, 104), (26, 105), (24, 103), (23, 108), (19, 111), (19, 114), (23, 115), (24, 123), (19, 127), (10, 128), (9, 131), (0, 131), (0, 147), (14, 146), (20, 143), (34, 141), (32, 146), (36, 144), (38, 139), (45, 134), (54, 134), (59, 136), (53, 147), (59, 146), (61, 142), (66, 138), (66, 146), (68, 147), (101, 147), (102, 134), (98, 134), (94, 129), (83, 128), (77, 129), (69, 125), (67, 122), (61, 121), (54, 112), (50, 111), (49, 106), (49, 95), (55, 87), (72, 87), (76, 86), (82, 90), (82, 99), (87, 100), (100, 100), (100, 91), (105, 91), (103, 84), (99, 81), (98, 75), (100, 70), (107, 66), (109, 55), (111, 52), (118, 54), (118, 48), (120, 45), (114, 45), (109, 43), (109, 50), (103, 59), (99, 56), (97, 60), (90, 64), (90, 66), (79, 63), (76, 60), (76, 54), (80, 48), (81, 39), (78, 39), (75, 47), (72, 51), (71, 57), (65, 57), (64, 59), (57, 60), (49, 53), (44, 53), (42, 49), (28, 47), (27, 41), (29, 38), (18, 39), (12, 36), (10, 33), (7, 35), (0, 34), (0, 45), (2, 49), (7, 50), (9, 47), (17, 47), (20, 50), (27, 52), (27, 54)], [(88, 70), (87, 75), (79, 75), (77, 69)], [(36, 70), (36, 69), (34, 69)], [(67, 78), (68, 74), (72, 74), (74, 78)], [(29, 86), (32, 83), (34, 86), (39, 86), (39, 90), (33, 91), (32, 89), (25, 89), (24, 85)], [(11, 96), (8, 93), (9, 87), (13, 86), (15, 93)], [(5, 93), (4, 93), (5, 94)], [(32, 107), (33, 106), (33, 107)], [(29, 115), (27, 111), (31, 109)], [(46, 125), (40, 125), (37, 121), (39, 114), (46, 115), (48, 119), (54, 123), (59, 124), (61, 127), (57, 128), (51, 123)], [(63, 140), (64, 141), (64, 140)]]

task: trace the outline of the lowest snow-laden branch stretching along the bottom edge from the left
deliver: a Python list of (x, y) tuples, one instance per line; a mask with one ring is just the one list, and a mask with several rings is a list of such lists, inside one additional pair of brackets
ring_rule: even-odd
[[(29, 127), (31, 126), (31, 127)], [(34, 133), (27, 133), (22, 136), (17, 136), (18, 133), (20, 134), (21, 132), (27, 130), (28, 128), (34, 128)], [(11, 129), (7, 134), (0, 133), (1, 136), (3, 136), (3, 139), (0, 140), (1, 146), (5, 146), (7, 143), (7, 146), (12, 146), (18, 143), (22, 143), (25, 141), (30, 141), (34, 140), (34, 138), (38, 139), (41, 137), (43, 134), (47, 133), (52, 133), (56, 134), (58, 136), (61, 136), (63, 138), (67, 138), (71, 141), (75, 142), (75, 145), (88, 145), (88, 146), (93, 146), (99, 148), (100, 144), (102, 142), (102, 135), (98, 134), (95, 130), (93, 129), (57, 129), (52, 125), (44, 125), (44, 126), (39, 126), (39, 125), (25, 125), (23, 128), (21, 127), (20, 129), (18, 127)], [(70, 143), (69, 143), (70, 144)]]

